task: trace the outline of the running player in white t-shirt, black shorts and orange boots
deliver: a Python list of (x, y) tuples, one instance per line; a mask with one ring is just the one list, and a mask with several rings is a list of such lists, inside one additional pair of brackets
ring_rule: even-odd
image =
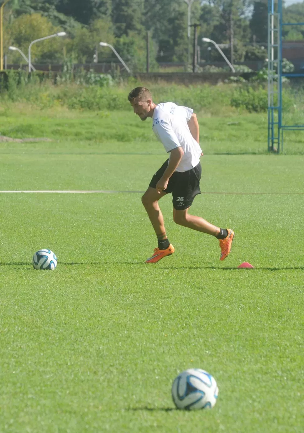
[(226, 259), (230, 253), (234, 231), (221, 229), (188, 212), (194, 197), (201, 194), (199, 181), (202, 168), (199, 160), (202, 149), (198, 144), (199, 126), (195, 113), (191, 108), (181, 107), (173, 102), (156, 105), (150, 91), (145, 87), (131, 90), (128, 100), (134, 113), (141, 120), (152, 118), (154, 134), (170, 154), (169, 159), (152, 177), (147, 191), (141, 198), (158, 241), (158, 247), (146, 263), (156, 263), (174, 252), (174, 247), (166, 235), (163, 214), (158, 205), (158, 200), (170, 193), (173, 195), (174, 222), (219, 239), (220, 260)]

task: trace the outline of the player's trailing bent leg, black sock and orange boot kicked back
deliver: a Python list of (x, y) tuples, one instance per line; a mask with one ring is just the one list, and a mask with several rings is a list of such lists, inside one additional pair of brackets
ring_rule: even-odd
[[(173, 209), (173, 220), (180, 226), (188, 227), (189, 229), (197, 230), (198, 232), (207, 233), (208, 235), (215, 236), (221, 247), (220, 260), (226, 259), (230, 253), (231, 244), (234, 238), (234, 231), (231, 229), (220, 229), (200, 216), (191, 215), (188, 213), (189, 207), (185, 210)], [(222, 235), (222, 232), (224, 233)]]

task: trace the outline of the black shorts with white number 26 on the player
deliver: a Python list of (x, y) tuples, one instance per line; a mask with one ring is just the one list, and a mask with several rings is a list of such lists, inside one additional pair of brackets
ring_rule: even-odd
[[(159, 170), (154, 174), (150, 181), (149, 186), (155, 188), (157, 182), (163, 176), (164, 171), (168, 167), (168, 161), (163, 163)], [(191, 170), (184, 171), (180, 173), (179, 171), (174, 171), (169, 179), (168, 185), (163, 192), (172, 193), (173, 196), (173, 207), (176, 210), (184, 210), (192, 205), (194, 197), (197, 194), (201, 194), (199, 188), (199, 181), (201, 179), (202, 167), (199, 162), (196, 167), (191, 168)]]

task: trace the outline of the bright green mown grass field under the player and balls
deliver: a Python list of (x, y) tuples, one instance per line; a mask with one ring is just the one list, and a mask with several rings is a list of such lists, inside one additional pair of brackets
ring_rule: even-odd
[[(268, 155), (266, 115), (201, 114), (192, 213), (233, 228), (233, 250), (220, 262), (164, 197), (176, 252), (145, 265), (141, 191), (166, 158), (149, 120), (26, 107), (0, 120), (0, 135), (53, 139), (0, 143), (1, 191), (118, 191), (0, 193), (0, 432), (303, 432), (304, 136)], [(32, 268), (40, 248), (55, 271)], [(218, 382), (210, 411), (171, 400), (192, 367)]]

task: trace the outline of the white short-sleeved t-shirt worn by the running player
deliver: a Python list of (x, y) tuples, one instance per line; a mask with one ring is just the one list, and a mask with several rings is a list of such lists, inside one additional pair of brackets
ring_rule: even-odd
[(199, 163), (202, 149), (192, 137), (189, 122), (193, 110), (176, 105), (173, 102), (158, 104), (153, 113), (152, 129), (163, 143), (166, 152), (181, 147), (184, 151), (182, 159), (175, 171), (188, 171)]

